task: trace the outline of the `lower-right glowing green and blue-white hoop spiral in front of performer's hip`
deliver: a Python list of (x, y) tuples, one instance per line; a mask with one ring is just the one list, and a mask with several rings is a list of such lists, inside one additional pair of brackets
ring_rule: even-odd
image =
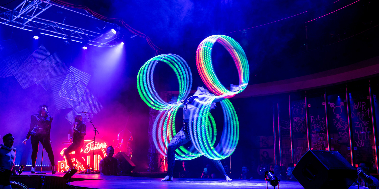
[(204, 153), (207, 158), (221, 160), (232, 155), (237, 147), (240, 128), (237, 114), (229, 99), (221, 101), (222, 111), (224, 112), (224, 129), (219, 143), (214, 147), (213, 135), (207, 124), (207, 113), (210, 111), (211, 104), (215, 97), (209, 98), (207, 102), (198, 108), (199, 119), (194, 127), (189, 126), (189, 136), (192, 144), (200, 153)]

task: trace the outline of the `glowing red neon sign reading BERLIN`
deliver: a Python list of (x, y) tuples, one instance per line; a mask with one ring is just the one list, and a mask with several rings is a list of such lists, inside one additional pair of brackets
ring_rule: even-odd
[[(95, 150), (95, 156), (94, 156), (94, 170), (99, 170), (99, 162), (100, 160), (102, 160), (103, 158), (106, 157), (106, 152), (105, 152), (105, 149), (108, 147), (106, 145), (106, 143), (96, 143), (95, 145), (93, 144), (93, 141), (92, 140), (84, 140), (84, 149), (83, 147), (80, 149), (80, 154), (82, 156), (82, 158), (85, 158), (87, 157), (87, 164), (89, 164), (90, 166), (92, 166), (92, 155), (93, 155), (93, 151)], [(69, 167), (68, 167), (68, 164), (67, 164), (67, 159), (66, 159), (66, 156), (64, 155), (64, 150), (66, 150), (67, 147), (63, 148), (61, 150), (61, 156), (64, 158), (64, 160), (61, 160), (61, 161), (58, 161), (58, 172), (64, 172), (64, 171), (68, 171), (69, 170)], [(75, 152), (70, 152), (70, 155), (74, 155)], [(74, 164), (74, 166), (76, 166), (76, 168), (79, 170), (79, 171), (85, 171), (87, 170), (87, 166), (86, 165), (82, 165), (81, 163), (79, 163), (78, 161), (76, 161), (75, 158), (71, 158), (71, 161), (72, 163)]]

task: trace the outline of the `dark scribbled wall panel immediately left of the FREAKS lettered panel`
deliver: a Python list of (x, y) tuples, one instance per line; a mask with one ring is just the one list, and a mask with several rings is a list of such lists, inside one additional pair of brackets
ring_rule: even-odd
[(291, 101), (291, 133), (293, 163), (296, 164), (308, 151), (307, 113), (305, 99)]

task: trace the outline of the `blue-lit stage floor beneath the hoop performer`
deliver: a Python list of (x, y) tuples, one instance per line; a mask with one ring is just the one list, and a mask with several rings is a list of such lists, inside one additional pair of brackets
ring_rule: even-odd
[[(28, 176), (50, 176), (50, 177), (63, 177), (64, 173), (51, 174), (30, 174)], [(75, 174), (72, 176), (72, 181), (68, 185), (71, 188), (91, 188), (91, 189), (244, 189), (256, 188), (266, 189), (266, 181), (263, 180), (241, 180), (234, 179), (232, 182), (226, 182), (223, 179), (197, 179), (197, 178), (177, 178), (174, 181), (162, 182), (161, 178), (147, 178), (147, 177), (124, 177), (124, 176), (104, 176), (99, 174)], [(271, 185), (268, 188), (273, 189)], [(277, 187), (276, 187), (277, 188)], [(280, 189), (303, 189), (301, 184), (295, 181), (281, 181), (279, 183)], [(366, 187), (360, 186), (364, 189)], [(358, 186), (351, 186), (350, 189), (358, 189)]]

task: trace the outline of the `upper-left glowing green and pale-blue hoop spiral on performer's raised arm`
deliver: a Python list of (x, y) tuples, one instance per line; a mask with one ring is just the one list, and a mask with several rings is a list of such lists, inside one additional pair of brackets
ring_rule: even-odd
[(137, 88), (139, 96), (151, 108), (155, 110), (168, 110), (177, 102), (168, 103), (157, 93), (153, 83), (153, 73), (158, 62), (168, 64), (174, 70), (179, 81), (179, 96), (177, 102), (184, 100), (192, 87), (192, 73), (187, 62), (176, 54), (161, 54), (153, 57), (142, 65), (137, 76)]

